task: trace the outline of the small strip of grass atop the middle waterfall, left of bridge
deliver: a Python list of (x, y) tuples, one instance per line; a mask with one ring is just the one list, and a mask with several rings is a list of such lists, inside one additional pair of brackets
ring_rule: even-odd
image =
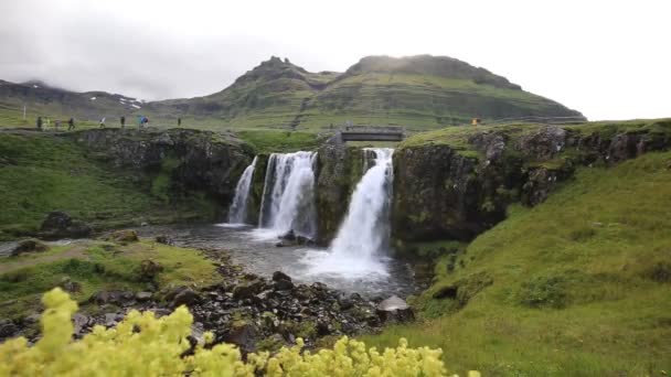
[(256, 153), (310, 151), (324, 141), (323, 137), (311, 132), (246, 130), (237, 134), (252, 144)]

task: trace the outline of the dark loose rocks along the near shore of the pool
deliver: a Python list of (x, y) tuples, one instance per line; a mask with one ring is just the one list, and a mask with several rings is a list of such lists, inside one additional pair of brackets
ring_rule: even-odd
[[(114, 234), (107, 239), (132, 241), (130, 234)], [(159, 243), (171, 243), (167, 236)], [(271, 278), (249, 273), (231, 261), (221, 249), (203, 249), (216, 266), (221, 281), (194, 289), (180, 286), (158, 290), (151, 282), (146, 291), (98, 291), (75, 314), (75, 337), (82, 337), (95, 325), (115, 326), (128, 311), (153, 311), (158, 316), (187, 305), (194, 316), (192, 342), (201, 341), (204, 331), (212, 331), (216, 342), (236, 344), (245, 353), (276, 351), (302, 337), (308, 347), (329, 336), (356, 335), (379, 331), (384, 324), (413, 319), (412, 309), (397, 297), (363, 298), (344, 293), (323, 283), (297, 283), (288, 274), (276, 271)], [(141, 265), (145, 276), (161, 270), (159, 263)], [(76, 291), (77, 283), (63, 281), (65, 290)], [(0, 320), (0, 342), (14, 336), (39, 338), (39, 314), (13, 321)]]

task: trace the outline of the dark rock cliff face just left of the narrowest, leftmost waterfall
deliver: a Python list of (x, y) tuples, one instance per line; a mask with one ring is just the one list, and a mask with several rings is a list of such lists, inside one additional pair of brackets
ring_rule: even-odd
[(232, 136), (172, 129), (146, 131), (100, 129), (72, 134), (95, 158), (150, 175), (163, 174), (177, 194), (204, 193), (225, 212), (242, 171), (254, 152)]

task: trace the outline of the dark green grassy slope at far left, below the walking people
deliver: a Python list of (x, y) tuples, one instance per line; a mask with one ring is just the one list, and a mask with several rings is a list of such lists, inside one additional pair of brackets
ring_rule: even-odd
[(188, 217), (202, 209), (198, 203), (166, 206), (167, 187), (161, 191), (158, 183), (137, 183), (128, 172), (89, 157), (70, 138), (2, 132), (0, 238), (36, 230), (45, 214), (56, 209), (94, 226)]

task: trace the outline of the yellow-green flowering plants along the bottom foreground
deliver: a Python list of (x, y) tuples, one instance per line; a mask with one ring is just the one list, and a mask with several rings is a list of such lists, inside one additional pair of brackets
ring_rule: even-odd
[[(230, 344), (213, 345), (215, 336), (203, 334), (204, 344), (191, 348), (193, 316), (185, 306), (156, 319), (153, 313), (131, 311), (115, 328), (96, 326), (82, 341), (72, 340), (71, 317), (77, 304), (60, 289), (43, 299), (43, 334), (34, 346), (25, 338), (0, 345), (0, 375), (115, 375), (130, 376), (443, 376), (440, 349), (397, 347), (379, 352), (362, 342), (340, 338), (332, 349), (311, 354), (296, 346), (246, 355)], [(191, 348), (191, 349), (190, 349)], [(138, 352), (141, 349), (141, 352)], [(191, 351), (191, 352), (189, 352)], [(479, 376), (471, 373), (469, 376)]]

